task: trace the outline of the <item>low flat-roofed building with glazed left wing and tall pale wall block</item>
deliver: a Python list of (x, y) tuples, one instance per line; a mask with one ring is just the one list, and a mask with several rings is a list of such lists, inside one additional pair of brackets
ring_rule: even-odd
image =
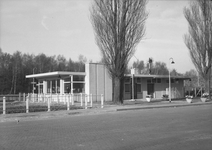
[[(92, 94), (93, 100), (102, 94), (105, 101), (112, 100), (112, 79), (104, 64), (88, 63), (85, 72), (55, 71), (27, 75), (26, 78), (37, 79), (36, 89), (38, 95), (51, 94)], [(184, 80), (189, 78), (171, 76), (171, 97), (183, 98), (185, 95)], [(152, 95), (161, 99), (169, 92), (169, 76), (167, 75), (142, 75), (132, 70), (131, 74), (124, 77), (124, 99), (145, 99)]]

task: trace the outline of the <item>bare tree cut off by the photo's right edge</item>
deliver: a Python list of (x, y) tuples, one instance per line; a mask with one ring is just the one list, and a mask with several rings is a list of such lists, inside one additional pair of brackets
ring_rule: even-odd
[(193, 64), (205, 81), (205, 90), (209, 92), (212, 64), (212, 1), (192, 1), (189, 8), (184, 8), (184, 15), (189, 23), (185, 44)]

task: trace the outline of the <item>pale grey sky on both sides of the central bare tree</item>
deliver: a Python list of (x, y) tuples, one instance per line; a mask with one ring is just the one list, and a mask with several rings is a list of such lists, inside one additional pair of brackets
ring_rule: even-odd
[[(92, 0), (0, 0), (0, 47), (47, 56), (63, 55), (78, 60), (84, 55), (101, 59), (90, 22)], [(188, 0), (149, 0), (145, 37), (136, 47), (129, 66), (137, 59), (162, 61), (170, 69), (185, 73), (194, 69), (183, 36), (188, 23), (183, 8)], [(175, 64), (170, 65), (170, 58)]]

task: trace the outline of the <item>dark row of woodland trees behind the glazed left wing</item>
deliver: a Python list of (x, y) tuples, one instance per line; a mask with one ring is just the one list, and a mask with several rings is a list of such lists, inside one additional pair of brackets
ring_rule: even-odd
[(33, 73), (52, 71), (84, 72), (86, 57), (80, 55), (78, 61), (66, 60), (62, 55), (23, 54), (16, 51), (12, 55), (0, 49), (0, 94), (30, 92), (31, 80), (25, 76)]

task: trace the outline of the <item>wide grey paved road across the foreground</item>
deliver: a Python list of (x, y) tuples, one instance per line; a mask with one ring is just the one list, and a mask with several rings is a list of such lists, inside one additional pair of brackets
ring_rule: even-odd
[(0, 123), (1, 150), (211, 150), (211, 105)]

